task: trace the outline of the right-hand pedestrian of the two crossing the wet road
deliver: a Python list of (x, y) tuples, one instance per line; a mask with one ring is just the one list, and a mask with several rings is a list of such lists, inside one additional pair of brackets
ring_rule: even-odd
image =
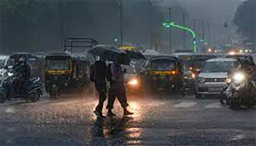
[(127, 97), (126, 97), (126, 88), (124, 83), (124, 73), (119, 62), (114, 62), (110, 65), (111, 79), (110, 79), (110, 91), (108, 97), (108, 113), (107, 116), (112, 117), (116, 116), (113, 112), (113, 105), (115, 102), (115, 98), (117, 97), (121, 106), (124, 109), (124, 116), (132, 115), (133, 113), (127, 110)]

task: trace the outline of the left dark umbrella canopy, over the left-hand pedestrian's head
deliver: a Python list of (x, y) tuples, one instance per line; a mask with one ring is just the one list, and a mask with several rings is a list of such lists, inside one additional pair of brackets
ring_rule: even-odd
[(97, 45), (89, 50), (89, 52), (106, 60), (119, 62), (121, 64), (129, 64), (130, 62), (130, 58), (125, 51), (113, 46)]

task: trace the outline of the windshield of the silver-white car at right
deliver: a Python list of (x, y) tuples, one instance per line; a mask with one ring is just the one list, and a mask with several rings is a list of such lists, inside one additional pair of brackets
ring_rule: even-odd
[(236, 68), (234, 61), (206, 62), (201, 73), (230, 72)]

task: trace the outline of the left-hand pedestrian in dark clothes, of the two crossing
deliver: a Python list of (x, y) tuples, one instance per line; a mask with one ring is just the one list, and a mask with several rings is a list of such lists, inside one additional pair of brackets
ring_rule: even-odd
[(106, 92), (106, 69), (107, 65), (103, 58), (97, 60), (91, 67), (91, 81), (94, 82), (95, 88), (99, 93), (98, 105), (95, 108), (94, 113), (97, 117), (104, 117), (102, 115), (103, 103), (107, 98)]

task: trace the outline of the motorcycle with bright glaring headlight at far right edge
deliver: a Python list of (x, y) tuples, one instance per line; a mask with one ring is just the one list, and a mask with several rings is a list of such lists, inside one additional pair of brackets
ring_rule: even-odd
[(231, 76), (231, 83), (224, 91), (226, 104), (231, 109), (238, 109), (241, 105), (251, 107), (256, 104), (255, 82), (250, 75), (235, 72)]

